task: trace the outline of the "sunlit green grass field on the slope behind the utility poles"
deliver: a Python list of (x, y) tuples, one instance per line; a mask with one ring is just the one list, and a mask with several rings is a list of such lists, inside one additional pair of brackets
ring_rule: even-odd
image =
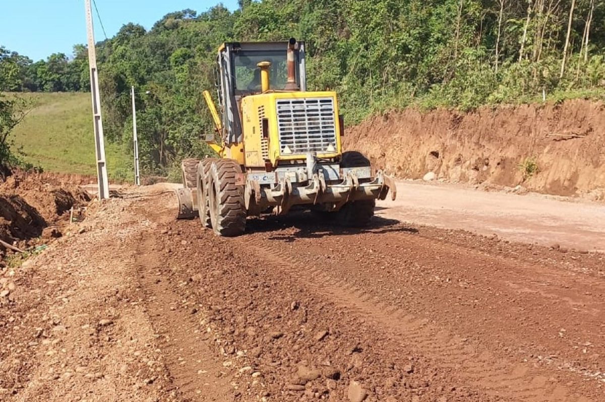
[[(47, 172), (96, 175), (90, 94), (20, 94), (33, 110), (15, 128), (14, 150), (25, 162)], [(128, 180), (133, 173), (129, 152), (105, 141), (107, 170), (114, 180)]]

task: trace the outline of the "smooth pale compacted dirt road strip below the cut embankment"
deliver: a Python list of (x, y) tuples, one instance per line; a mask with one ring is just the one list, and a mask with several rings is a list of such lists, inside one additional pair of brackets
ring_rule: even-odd
[(510, 241), (605, 252), (605, 203), (422, 181), (397, 181), (397, 193), (396, 201), (378, 203), (377, 215)]

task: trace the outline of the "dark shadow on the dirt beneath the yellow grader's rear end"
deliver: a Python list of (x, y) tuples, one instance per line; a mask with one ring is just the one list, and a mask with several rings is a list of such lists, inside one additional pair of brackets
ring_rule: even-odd
[(275, 233), (270, 236), (271, 240), (293, 242), (296, 239), (322, 238), (325, 236), (347, 236), (359, 235), (361, 233), (418, 233), (418, 229), (410, 225), (402, 224), (397, 219), (386, 219), (374, 216), (370, 225), (364, 228), (342, 227), (333, 219), (320, 218), (312, 212), (293, 212), (285, 216), (264, 216), (257, 219), (248, 219), (246, 225), (247, 233), (269, 233), (279, 232), (284, 229), (298, 229), (295, 233)]

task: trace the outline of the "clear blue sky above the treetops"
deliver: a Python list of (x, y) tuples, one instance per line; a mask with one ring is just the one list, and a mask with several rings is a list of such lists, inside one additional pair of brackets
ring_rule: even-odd
[[(229, 10), (237, 0), (96, 0), (108, 37), (128, 22), (149, 29), (166, 14), (191, 8), (201, 13), (218, 3)], [(94, 36), (105, 39), (94, 11)], [(71, 55), (75, 44), (85, 44), (84, 0), (0, 0), (0, 45), (30, 57), (46, 59), (52, 53)]]

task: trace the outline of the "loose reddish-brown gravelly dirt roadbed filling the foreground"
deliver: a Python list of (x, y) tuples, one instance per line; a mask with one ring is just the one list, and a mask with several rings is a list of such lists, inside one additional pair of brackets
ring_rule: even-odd
[(605, 400), (603, 254), (384, 216), (221, 239), (141, 191), (4, 273), (1, 400)]

